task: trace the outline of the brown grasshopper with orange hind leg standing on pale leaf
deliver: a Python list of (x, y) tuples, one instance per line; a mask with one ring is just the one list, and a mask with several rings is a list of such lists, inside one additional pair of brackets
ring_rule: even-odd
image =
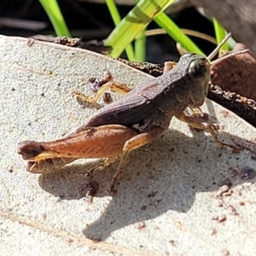
[(228, 38), (230, 34), (208, 57), (183, 55), (176, 67), (137, 89), (129, 91), (125, 85), (116, 84), (111, 79), (102, 85), (94, 98), (80, 95), (87, 102), (96, 102), (109, 88), (126, 93), (118, 101), (101, 108), (67, 137), (46, 143), (19, 143), (18, 153), (24, 160), (30, 160), (27, 170), (32, 173), (52, 172), (76, 159), (104, 159), (103, 163), (88, 172), (91, 176), (119, 158), (119, 166), (110, 186), (110, 192), (115, 192), (128, 154), (159, 137), (168, 129), (174, 116), (192, 127), (210, 132), (213, 141), (220, 147), (234, 149), (234, 146), (218, 140), (218, 125), (205, 119), (200, 109), (207, 96), (211, 66), (230, 55), (212, 63), (210, 60)]

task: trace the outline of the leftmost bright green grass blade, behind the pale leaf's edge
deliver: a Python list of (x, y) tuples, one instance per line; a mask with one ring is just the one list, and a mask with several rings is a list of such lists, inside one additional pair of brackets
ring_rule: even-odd
[(61, 14), (61, 9), (56, 0), (39, 0), (44, 7), (45, 12), (49, 16), (49, 20), (55, 29), (57, 36), (66, 36), (71, 38), (71, 34), (68, 31), (66, 22)]

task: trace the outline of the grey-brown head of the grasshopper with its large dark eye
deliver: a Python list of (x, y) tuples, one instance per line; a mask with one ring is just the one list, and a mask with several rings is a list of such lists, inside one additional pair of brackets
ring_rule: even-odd
[(186, 67), (186, 77), (189, 79), (189, 106), (200, 107), (207, 96), (211, 63), (207, 57), (196, 54), (186, 54), (181, 59)]

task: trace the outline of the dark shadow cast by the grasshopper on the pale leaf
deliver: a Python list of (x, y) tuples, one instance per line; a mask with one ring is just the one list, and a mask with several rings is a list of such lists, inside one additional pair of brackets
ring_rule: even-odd
[[(230, 176), (229, 168), (243, 165), (239, 154), (230, 148), (219, 148), (212, 143), (212, 137), (197, 131), (192, 134), (188, 137), (180, 131), (167, 130), (154, 143), (132, 152), (117, 186), (118, 193), (106, 203), (101, 218), (86, 225), (84, 235), (102, 241), (114, 230), (169, 210), (188, 212), (196, 193), (218, 190), (219, 183)], [(232, 166), (227, 165), (229, 160)], [(91, 164), (73, 164), (60, 172), (41, 175), (39, 184), (60, 199), (78, 200), (84, 196), (84, 173), (90, 167)], [(100, 184), (96, 196), (108, 195), (114, 167), (96, 173), (94, 178)]]

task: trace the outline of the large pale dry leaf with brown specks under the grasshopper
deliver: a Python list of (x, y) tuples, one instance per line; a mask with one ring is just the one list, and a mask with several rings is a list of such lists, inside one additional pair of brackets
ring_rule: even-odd
[[(0, 49), (2, 254), (32, 255), (42, 248), (55, 255), (255, 254), (255, 178), (247, 184), (230, 171), (255, 168), (253, 126), (207, 100), (203, 110), (225, 131), (220, 139), (247, 149), (235, 154), (218, 148), (209, 134), (172, 119), (154, 143), (131, 153), (116, 196), (108, 195), (116, 165), (96, 174), (99, 190), (90, 203), (81, 191), (95, 160), (33, 175), (17, 143), (55, 139), (82, 125), (96, 110), (81, 108), (71, 92), (93, 95), (88, 80), (106, 69), (130, 86), (152, 77), (107, 56), (25, 38), (1, 36)], [(216, 203), (218, 184), (228, 177), (234, 193), (224, 203), (236, 207), (236, 216)], [(214, 215), (225, 215), (224, 224)], [(138, 230), (142, 222), (145, 228)]]

